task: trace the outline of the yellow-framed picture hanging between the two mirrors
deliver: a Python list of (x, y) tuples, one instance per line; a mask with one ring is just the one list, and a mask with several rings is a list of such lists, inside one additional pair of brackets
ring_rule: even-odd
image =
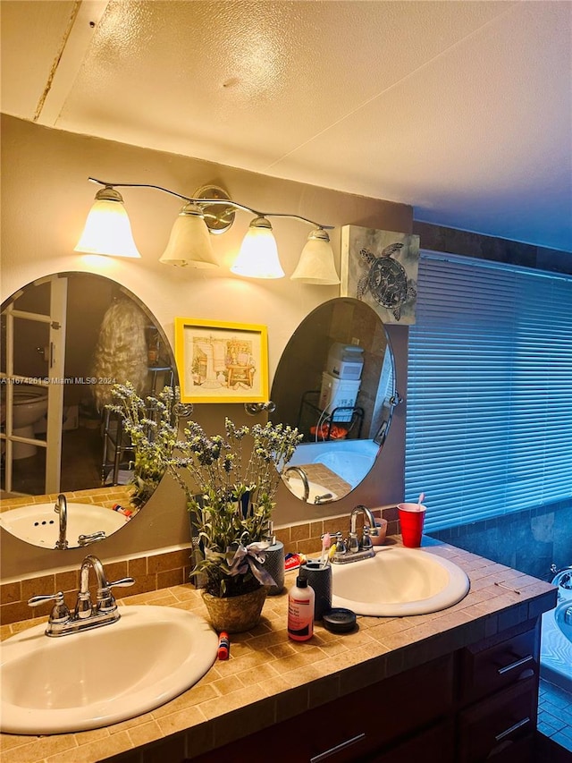
[(266, 326), (175, 318), (182, 403), (266, 403)]

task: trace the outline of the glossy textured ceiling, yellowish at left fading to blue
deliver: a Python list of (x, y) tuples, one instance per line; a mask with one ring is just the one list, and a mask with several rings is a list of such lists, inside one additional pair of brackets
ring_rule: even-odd
[(569, 0), (0, 10), (7, 114), (572, 250)]

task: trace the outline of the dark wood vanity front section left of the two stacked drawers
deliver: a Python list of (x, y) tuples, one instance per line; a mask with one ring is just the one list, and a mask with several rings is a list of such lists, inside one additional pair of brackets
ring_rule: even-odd
[[(453, 685), (454, 655), (448, 655), (212, 750), (193, 763), (241, 759), (241, 750), (247, 759), (248, 749), (269, 750), (273, 763), (290, 763), (292, 757), (303, 763), (406, 763), (416, 750), (423, 751), (424, 761), (452, 763), (443, 750), (449, 745), (452, 752)], [(417, 731), (415, 742), (411, 737)]]

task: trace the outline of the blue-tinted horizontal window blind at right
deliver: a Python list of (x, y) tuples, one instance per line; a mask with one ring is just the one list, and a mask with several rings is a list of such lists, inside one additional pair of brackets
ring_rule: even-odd
[(424, 252), (406, 496), (425, 530), (572, 496), (572, 278)]

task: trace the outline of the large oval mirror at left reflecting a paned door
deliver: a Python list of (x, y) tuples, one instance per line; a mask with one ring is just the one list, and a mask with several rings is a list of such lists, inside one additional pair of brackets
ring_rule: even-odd
[(176, 384), (156, 318), (109, 278), (58, 273), (4, 301), (0, 341), (0, 526), (48, 548), (66, 547), (62, 524), (67, 547), (124, 527), (158, 483), (131, 483), (130, 442), (105, 406), (115, 382), (142, 395)]

